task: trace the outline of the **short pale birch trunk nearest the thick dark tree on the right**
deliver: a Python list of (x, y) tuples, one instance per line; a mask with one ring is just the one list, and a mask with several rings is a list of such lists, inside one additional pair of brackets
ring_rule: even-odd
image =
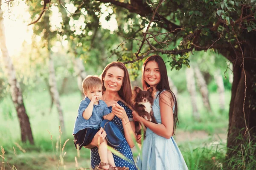
[(219, 94), (220, 109), (221, 109), (221, 111), (223, 111), (225, 109), (225, 89), (224, 89), (224, 82), (223, 82), (223, 78), (221, 76), (220, 69), (215, 71), (214, 79), (215, 79), (216, 85), (218, 87), (217, 91)]

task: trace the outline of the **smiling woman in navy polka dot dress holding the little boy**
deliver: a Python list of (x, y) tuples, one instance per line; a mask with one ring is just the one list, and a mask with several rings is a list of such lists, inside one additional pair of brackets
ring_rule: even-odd
[[(120, 128), (125, 137), (125, 141), (116, 150), (130, 160), (128, 162), (113, 155), (115, 164), (117, 167), (129, 167), (129, 170), (137, 170), (131, 152), (131, 148), (134, 147), (132, 136), (135, 137), (135, 124), (131, 110), (121, 101), (123, 100), (128, 105), (131, 105), (132, 90), (127, 68), (122, 62), (111, 62), (103, 70), (101, 78), (102, 100), (112, 112), (110, 113), (113, 116), (111, 122), (114, 122)], [(104, 134), (104, 136), (101, 134)], [(99, 134), (96, 134), (95, 139), (86, 146), (91, 149), (92, 168), (95, 168), (100, 163), (98, 148), (95, 147), (98, 145), (98, 138), (100, 142), (105, 140), (104, 130), (99, 130)]]

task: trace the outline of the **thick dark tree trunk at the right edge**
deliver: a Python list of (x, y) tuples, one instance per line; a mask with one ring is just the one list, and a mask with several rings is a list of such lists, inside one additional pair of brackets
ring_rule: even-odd
[[(236, 158), (242, 160), (243, 157), (241, 150), (243, 148), (241, 144), (243, 144), (243, 146), (245, 147), (248, 155), (250, 154), (249, 148), (251, 147), (250, 149), (254, 150), (253, 145), (255, 146), (256, 144), (256, 60), (247, 59), (247, 61), (245, 60), (244, 62), (247, 87), (245, 102), (245, 75), (240, 65), (241, 63), (236, 63), (236, 65), (233, 65), (234, 79), (231, 90), (232, 94), (229, 111), (229, 127), (227, 134), (227, 159)], [(249, 136), (248, 132), (246, 132), (247, 128), (250, 132), (250, 146), (248, 144)], [(254, 154), (255, 160), (256, 151), (254, 151), (254, 153), (252, 154)], [(249, 159), (253, 159), (253, 157), (250, 156)], [(244, 161), (247, 162), (247, 159), (244, 158)], [(250, 162), (253, 160), (248, 161)], [(241, 164), (236, 165), (236, 169), (242, 169), (241, 166)]]

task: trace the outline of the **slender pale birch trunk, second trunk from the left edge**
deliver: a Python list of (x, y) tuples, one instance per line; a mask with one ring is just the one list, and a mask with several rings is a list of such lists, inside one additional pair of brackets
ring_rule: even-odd
[(53, 102), (55, 103), (57, 110), (58, 110), (58, 115), (59, 115), (59, 121), (61, 125), (61, 130), (65, 134), (65, 125), (64, 125), (64, 116), (63, 116), (63, 111), (61, 108), (61, 102), (60, 102), (60, 97), (58, 93), (58, 88), (57, 88), (57, 83), (55, 79), (55, 70), (54, 70), (54, 62), (52, 59), (52, 54), (51, 54), (51, 48), (48, 40), (48, 52), (49, 52), (49, 86), (50, 86), (50, 91), (51, 94), (53, 95)]

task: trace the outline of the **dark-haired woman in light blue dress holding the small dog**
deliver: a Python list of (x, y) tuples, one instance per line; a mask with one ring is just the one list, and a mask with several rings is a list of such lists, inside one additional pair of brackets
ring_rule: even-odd
[(145, 60), (142, 84), (144, 90), (152, 86), (157, 90), (152, 109), (158, 124), (149, 122), (133, 112), (134, 120), (147, 127), (142, 154), (137, 158), (138, 169), (188, 170), (172, 137), (178, 123), (177, 101), (170, 90), (166, 65), (160, 56), (153, 55)]

